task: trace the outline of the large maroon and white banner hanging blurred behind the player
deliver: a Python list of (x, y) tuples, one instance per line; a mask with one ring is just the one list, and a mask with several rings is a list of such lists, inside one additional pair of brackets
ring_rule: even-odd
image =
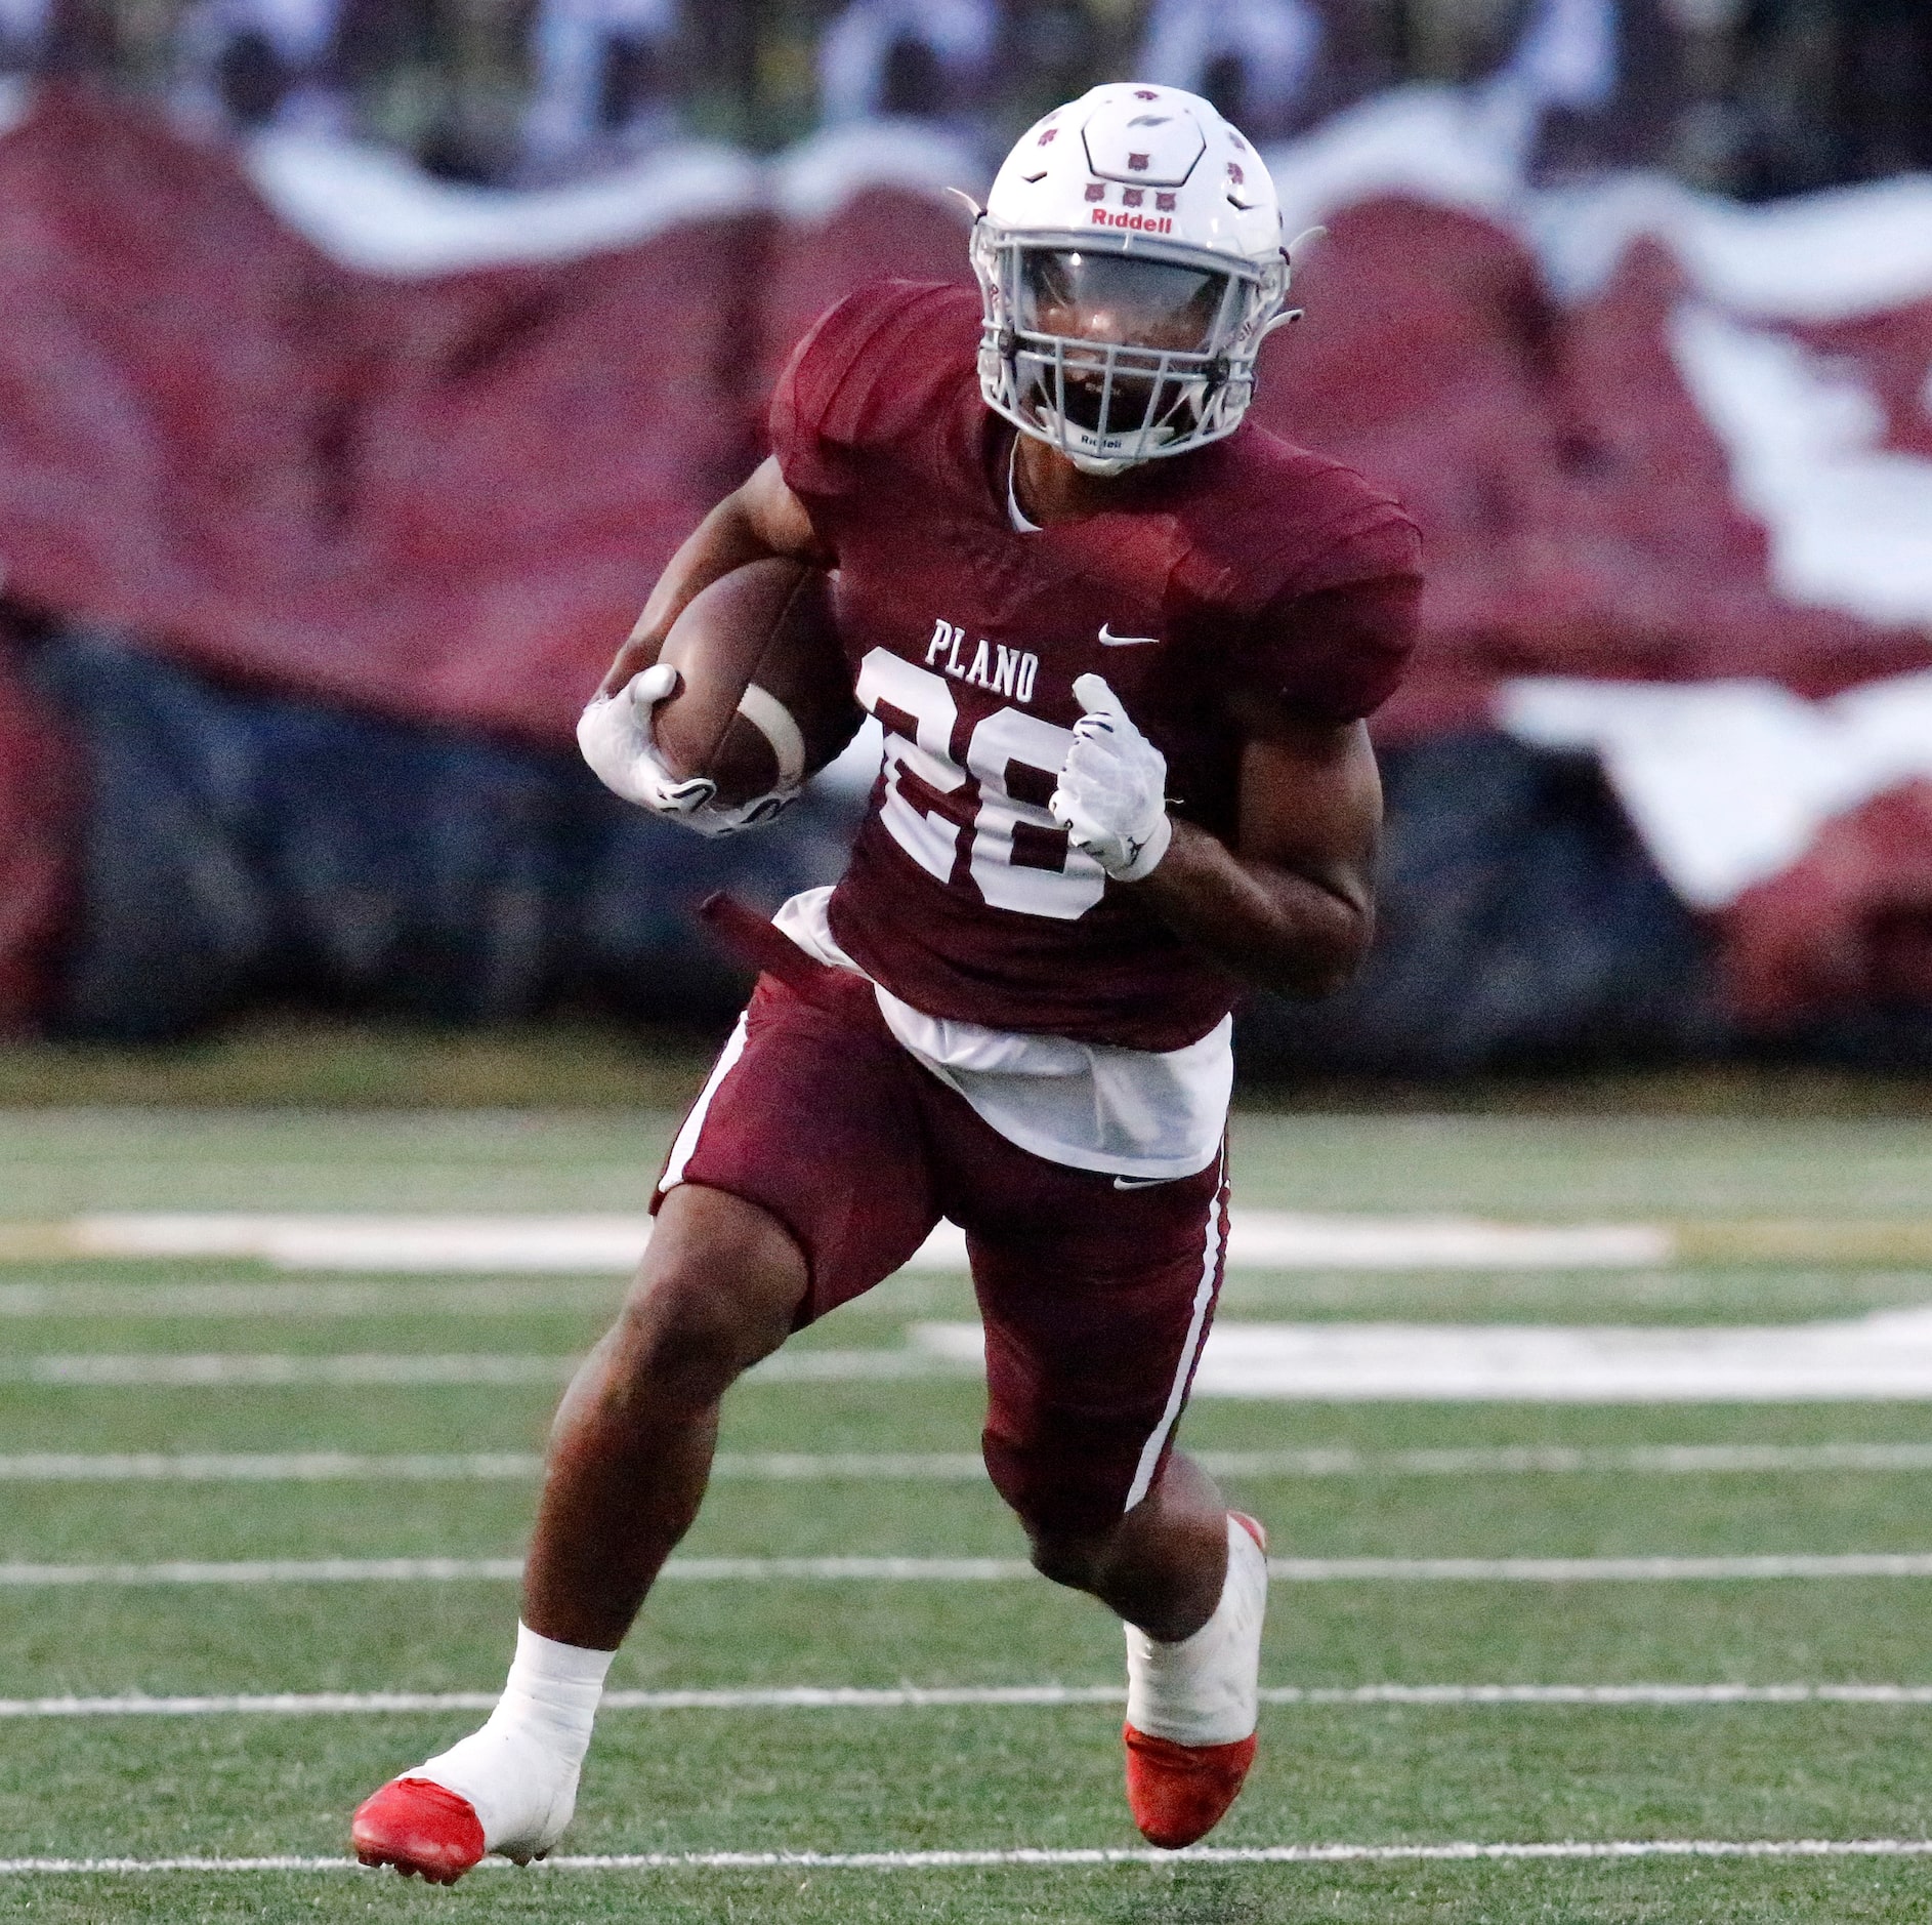
[[(1383, 736), (1501, 723), (1602, 754), (1665, 874), (1729, 918), (1750, 1007), (1917, 995), (1895, 932), (1932, 928), (1905, 848), (1932, 769), (1830, 704), (1932, 671), (1932, 184), (1756, 213), (1658, 182), (1530, 195), (1451, 95), (1271, 158), (1329, 232), (1258, 414), (1393, 485), (1430, 543)], [(964, 278), (939, 189), (978, 166), (887, 129), (489, 195), (44, 95), (0, 133), (4, 593), (265, 690), (564, 742), (813, 315), (875, 274)], [(1633, 719), (1629, 684), (1704, 705)], [(1864, 773), (1698, 895), (1708, 796), (1656, 767), (1723, 767), (1748, 819), (1781, 752), (1731, 740), (1748, 702), (1706, 698), (1739, 686)], [(15, 870), (52, 808), (27, 717), (0, 653)], [(41, 860), (0, 876), (0, 1013)], [(1878, 901), (1889, 961), (1806, 957), (1818, 918), (1841, 937)]]

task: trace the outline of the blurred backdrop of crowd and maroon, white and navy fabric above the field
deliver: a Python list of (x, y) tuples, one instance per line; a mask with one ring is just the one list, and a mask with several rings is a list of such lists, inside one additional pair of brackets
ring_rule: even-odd
[(1271, 85), (1182, 0), (558, 0), (560, 104), (543, 12), (52, 10), (0, 137), (0, 1020), (717, 1022), (684, 912), (831, 874), (864, 775), (692, 848), (572, 715), (811, 317), (964, 278), (945, 189), (1146, 56), (1329, 228), (1262, 419), (1430, 545), (1378, 957), (1250, 1063), (1924, 1065), (1932, 201), (1866, 12), (1269, 0)]

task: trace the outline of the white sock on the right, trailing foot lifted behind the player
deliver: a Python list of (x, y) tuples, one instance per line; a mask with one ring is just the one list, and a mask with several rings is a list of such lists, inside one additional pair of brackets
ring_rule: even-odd
[(1126, 1722), (1177, 1745), (1231, 1745), (1262, 1712), (1267, 1554), (1227, 1521), (1227, 1581), (1213, 1616), (1177, 1645), (1126, 1627)]

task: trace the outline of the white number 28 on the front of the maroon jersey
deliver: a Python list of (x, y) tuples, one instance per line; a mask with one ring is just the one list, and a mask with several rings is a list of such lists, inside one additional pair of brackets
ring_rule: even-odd
[[(893, 841), (939, 881), (952, 879), (960, 837), (972, 837), (970, 874), (993, 908), (1072, 922), (1105, 893), (1107, 872), (1047, 814), (1070, 729), (995, 709), (966, 744), (966, 767), (952, 760), (958, 704), (945, 676), (889, 649), (875, 647), (858, 671), (858, 700), (885, 729), (885, 802), (881, 821)], [(980, 783), (980, 808), (960, 827), (908, 794), (908, 777), (933, 794)]]

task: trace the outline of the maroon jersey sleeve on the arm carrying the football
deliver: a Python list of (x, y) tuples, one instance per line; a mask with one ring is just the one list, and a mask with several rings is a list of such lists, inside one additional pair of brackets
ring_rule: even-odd
[(792, 350), (771, 396), (771, 452), (815, 522), (819, 504), (829, 512), (858, 493), (881, 452), (929, 423), (927, 390), (949, 359), (937, 350), (960, 332), (962, 302), (976, 327), (978, 302), (958, 288), (877, 280)]

